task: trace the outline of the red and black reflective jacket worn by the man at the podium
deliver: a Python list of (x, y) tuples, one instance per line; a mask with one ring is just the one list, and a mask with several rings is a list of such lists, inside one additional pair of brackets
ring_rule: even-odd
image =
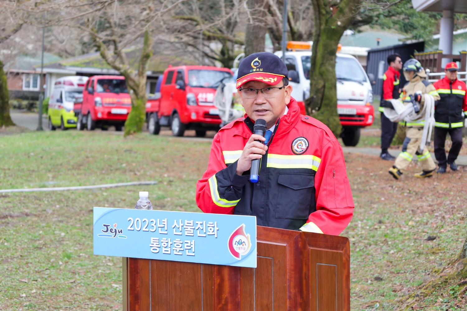
[(339, 235), (354, 207), (342, 148), (325, 124), (300, 114), (295, 99), (288, 108), (277, 120), (255, 184), (249, 172), (236, 174), (253, 122), (245, 116), (220, 129), (198, 180), (198, 207), (205, 213), (253, 215), (259, 226)]

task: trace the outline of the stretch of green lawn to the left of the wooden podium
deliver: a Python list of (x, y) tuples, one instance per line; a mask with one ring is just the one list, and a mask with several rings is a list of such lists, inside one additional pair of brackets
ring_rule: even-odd
[(121, 310), (120, 257), (92, 255), (92, 207), (199, 211), (211, 143), (111, 132), (0, 137), (0, 189), (157, 180), (151, 186), (0, 194), (0, 310)]

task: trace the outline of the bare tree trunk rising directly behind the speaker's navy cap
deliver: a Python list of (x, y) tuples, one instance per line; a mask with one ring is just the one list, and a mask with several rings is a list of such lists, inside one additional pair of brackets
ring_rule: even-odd
[(266, 14), (268, 9), (267, 0), (249, 0), (249, 14), (251, 20), (248, 21), (245, 33), (245, 57), (257, 52), (264, 52), (264, 38), (266, 35)]

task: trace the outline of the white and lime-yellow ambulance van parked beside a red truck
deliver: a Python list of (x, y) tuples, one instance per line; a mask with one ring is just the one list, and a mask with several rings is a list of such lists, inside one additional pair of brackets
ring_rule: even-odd
[(76, 127), (87, 80), (87, 76), (64, 76), (57, 79), (49, 98), (49, 130), (55, 131), (58, 126), (62, 130)]

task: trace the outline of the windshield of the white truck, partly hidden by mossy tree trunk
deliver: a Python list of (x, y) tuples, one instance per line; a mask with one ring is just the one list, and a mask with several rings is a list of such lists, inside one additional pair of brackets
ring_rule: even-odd
[[(302, 56), (303, 74), (310, 80), (311, 56)], [(336, 77), (338, 80), (366, 82), (367, 77), (358, 62), (353, 58), (336, 57)]]

